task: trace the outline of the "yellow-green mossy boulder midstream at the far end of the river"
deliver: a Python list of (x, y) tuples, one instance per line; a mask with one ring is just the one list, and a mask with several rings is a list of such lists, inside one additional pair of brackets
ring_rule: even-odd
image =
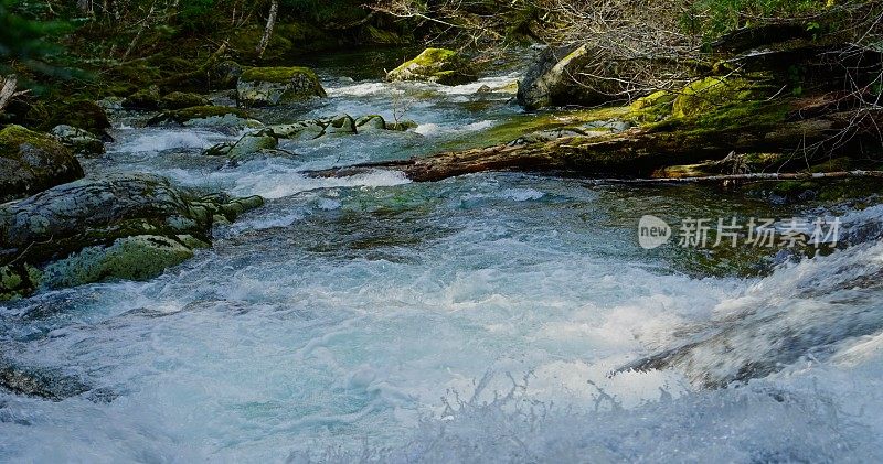
[(386, 80), (424, 80), (443, 85), (467, 84), (477, 79), (469, 62), (447, 48), (426, 48), (386, 74)]

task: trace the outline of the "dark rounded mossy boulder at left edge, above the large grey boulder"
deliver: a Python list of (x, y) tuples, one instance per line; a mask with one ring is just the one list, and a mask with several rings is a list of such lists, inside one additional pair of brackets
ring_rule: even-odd
[(81, 177), (79, 162), (54, 137), (21, 126), (0, 130), (0, 203)]

